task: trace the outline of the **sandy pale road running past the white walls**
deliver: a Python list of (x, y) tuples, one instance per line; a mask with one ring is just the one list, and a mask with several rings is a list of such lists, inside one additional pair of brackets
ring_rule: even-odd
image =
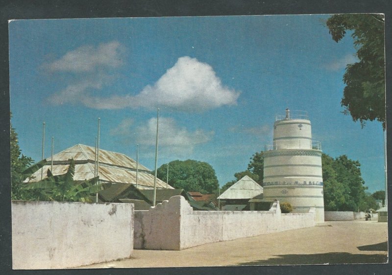
[(327, 222), (182, 251), (134, 250), (130, 259), (81, 268), (383, 263), (387, 238), (387, 223)]

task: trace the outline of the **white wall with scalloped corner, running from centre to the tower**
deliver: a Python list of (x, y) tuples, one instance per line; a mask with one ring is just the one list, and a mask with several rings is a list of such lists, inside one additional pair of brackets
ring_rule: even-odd
[(276, 201), (269, 211), (193, 211), (174, 196), (147, 211), (135, 211), (135, 249), (181, 250), (284, 230), (313, 227), (316, 210), (281, 214)]

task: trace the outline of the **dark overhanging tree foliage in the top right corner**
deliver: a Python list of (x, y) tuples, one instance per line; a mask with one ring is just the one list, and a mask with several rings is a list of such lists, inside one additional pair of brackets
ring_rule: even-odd
[(385, 44), (381, 14), (338, 14), (327, 22), (332, 39), (339, 42), (351, 32), (359, 62), (348, 64), (343, 75), (343, 113), (361, 126), (366, 120), (382, 122), (385, 130)]

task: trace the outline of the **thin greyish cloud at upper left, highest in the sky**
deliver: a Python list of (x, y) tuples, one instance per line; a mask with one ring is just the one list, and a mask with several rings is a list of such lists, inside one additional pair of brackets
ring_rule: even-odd
[(123, 46), (117, 41), (102, 43), (98, 47), (80, 46), (60, 59), (44, 64), (43, 68), (50, 72), (89, 72), (97, 68), (118, 68), (123, 65), (123, 51)]

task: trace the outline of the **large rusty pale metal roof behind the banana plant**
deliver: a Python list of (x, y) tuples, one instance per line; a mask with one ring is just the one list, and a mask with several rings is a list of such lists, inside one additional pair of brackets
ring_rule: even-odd
[[(75, 162), (75, 181), (83, 181), (94, 178), (95, 148), (87, 145), (77, 144), (58, 154), (53, 155), (53, 175), (61, 175), (67, 172), (70, 160)], [(25, 183), (38, 182), (47, 177), (50, 169), (51, 158), (47, 159), (47, 164), (32, 174), (33, 178), (25, 179)], [(138, 187), (151, 189), (154, 187), (154, 176), (145, 166), (138, 164)], [(107, 183), (132, 183), (136, 185), (136, 161), (121, 153), (99, 150), (99, 180)], [(157, 188), (174, 189), (169, 184), (156, 180)]]

